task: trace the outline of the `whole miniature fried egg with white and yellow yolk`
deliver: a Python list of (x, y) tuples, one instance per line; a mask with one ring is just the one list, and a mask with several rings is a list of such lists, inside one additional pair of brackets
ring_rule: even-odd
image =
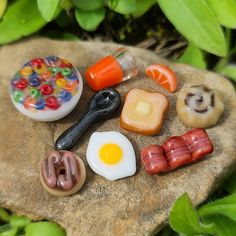
[(136, 172), (133, 146), (116, 131), (93, 133), (86, 156), (91, 169), (108, 180), (125, 178)]

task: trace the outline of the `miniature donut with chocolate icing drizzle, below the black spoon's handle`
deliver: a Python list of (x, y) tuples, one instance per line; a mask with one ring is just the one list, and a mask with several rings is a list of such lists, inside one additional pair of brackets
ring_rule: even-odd
[(40, 179), (45, 190), (55, 196), (77, 192), (84, 184), (86, 170), (82, 160), (69, 151), (53, 151), (42, 160)]

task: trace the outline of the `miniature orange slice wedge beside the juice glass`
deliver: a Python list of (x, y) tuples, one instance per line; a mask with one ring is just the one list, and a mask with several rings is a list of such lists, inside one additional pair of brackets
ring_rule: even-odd
[(151, 65), (146, 69), (146, 75), (169, 92), (175, 92), (177, 88), (177, 78), (169, 67), (161, 64)]

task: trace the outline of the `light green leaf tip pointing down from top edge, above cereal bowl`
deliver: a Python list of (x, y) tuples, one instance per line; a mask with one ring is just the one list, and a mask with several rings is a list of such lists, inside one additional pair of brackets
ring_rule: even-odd
[(60, 0), (37, 0), (38, 8), (46, 21), (54, 18)]

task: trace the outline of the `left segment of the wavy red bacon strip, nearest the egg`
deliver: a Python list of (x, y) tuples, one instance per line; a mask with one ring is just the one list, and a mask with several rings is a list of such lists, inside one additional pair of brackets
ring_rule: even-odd
[(168, 163), (162, 146), (150, 145), (141, 151), (141, 160), (149, 175), (168, 171)]

